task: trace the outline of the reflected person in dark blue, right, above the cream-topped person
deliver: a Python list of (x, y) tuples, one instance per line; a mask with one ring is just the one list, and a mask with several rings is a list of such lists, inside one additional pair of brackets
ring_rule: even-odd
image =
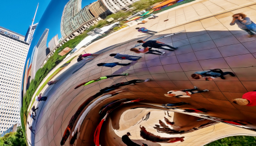
[(205, 78), (206, 81), (213, 80), (214, 78), (220, 77), (221, 79), (225, 80), (225, 75), (230, 74), (230, 76), (236, 76), (232, 72), (223, 72), (221, 69), (210, 69), (202, 72), (195, 72), (191, 74), (191, 77), (198, 80), (201, 77)]

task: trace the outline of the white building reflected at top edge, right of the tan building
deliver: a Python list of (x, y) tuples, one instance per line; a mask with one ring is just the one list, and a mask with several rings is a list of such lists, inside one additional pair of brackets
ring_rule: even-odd
[(129, 6), (139, 0), (102, 0), (104, 5), (113, 13), (123, 10), (130, 10)]

